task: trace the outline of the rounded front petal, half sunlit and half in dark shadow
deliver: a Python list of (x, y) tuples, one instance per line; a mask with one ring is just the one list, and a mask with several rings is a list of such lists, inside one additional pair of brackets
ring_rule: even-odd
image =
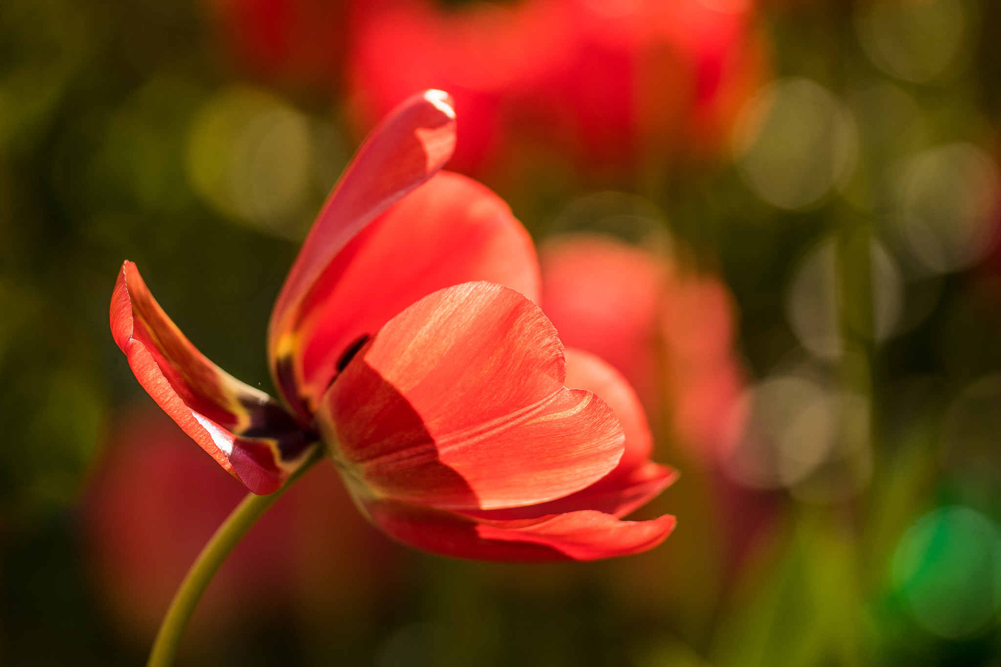
[(623, 454), (612, 409), (565, 377), (563, 345), (536, 304), (465, 283), (390, 320), (330, 386), (317, 425), (362, 496), (532, 505), (591, 485)]

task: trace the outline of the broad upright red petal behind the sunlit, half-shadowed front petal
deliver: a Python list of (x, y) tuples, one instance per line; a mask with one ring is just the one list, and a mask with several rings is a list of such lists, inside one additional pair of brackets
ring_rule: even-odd
[(292, 366), (308, 409), (352, 343), (431, 292), (478, 280), (538, 301), (532, 238), (487, 188), (440, 172), (351, 239), (303, 300)]

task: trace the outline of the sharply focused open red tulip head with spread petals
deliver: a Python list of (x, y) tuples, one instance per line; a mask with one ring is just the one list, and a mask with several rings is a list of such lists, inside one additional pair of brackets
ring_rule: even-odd
[(565, 357), (510, 209), (438, 173), (454, 128), (444, 93), (409, 98), (330, 194), (271, 314), (288, 409), (202, 356), (131, 262), (112, 297), (115, 340), (160, 407), (255, 493), (321, 446), (366, 514), (418, 548), (494, 560), (649, 549), (674, 517), (620, 517), (674, 473), (620, 423), (643, 422), (625, 381)]

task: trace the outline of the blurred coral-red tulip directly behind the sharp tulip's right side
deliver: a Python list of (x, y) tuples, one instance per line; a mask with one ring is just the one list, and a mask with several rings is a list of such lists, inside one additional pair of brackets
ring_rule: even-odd
[(708, 460), (728, 453), (743, 379), (719, 280), (611, 237), (568, 235), (544, 248), (543, 298), (561, 338), (622, 371), (676, 437)]

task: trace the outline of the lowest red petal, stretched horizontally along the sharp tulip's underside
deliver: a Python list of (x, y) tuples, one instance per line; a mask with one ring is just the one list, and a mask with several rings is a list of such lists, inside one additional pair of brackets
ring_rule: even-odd
[(395, 501), (364, 507), (382, 530), (403, 544), (444, 556), (476, 560), (592, 561), (652, 549), (674, 530), (664, 515), (622, 521), (602, 512), (571, 512), (521, 521), (488, 521)]

